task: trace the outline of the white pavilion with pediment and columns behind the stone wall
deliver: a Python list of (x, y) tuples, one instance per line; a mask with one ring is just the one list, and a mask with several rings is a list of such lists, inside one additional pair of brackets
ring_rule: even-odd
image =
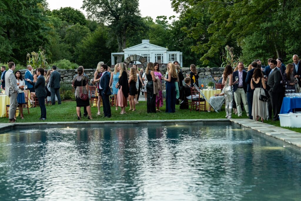
[[(161, 65), (168, 62), (178, 61), (180, 66), (183, 67), (182, 52), (167, 51), (167, 48), (156, 46), (150, 43), (150, 40), (142, 40), (141, 44), (126, 48), (123, 52), (111, 53), (112, 66), (115, 65), (115, 57), (123, 55), (124, 60), (131, 55), (140, 55), (146, 59), (147, 62), (158, 62)], [(136, 61), (137, 64), (141, 64)]]

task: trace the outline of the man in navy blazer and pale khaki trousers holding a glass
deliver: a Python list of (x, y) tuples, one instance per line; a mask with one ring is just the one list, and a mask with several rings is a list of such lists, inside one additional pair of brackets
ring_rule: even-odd
[(240, 99), (241, 99), (244, 103), (244, 108), (247, 112), (247, 116), (249, 116), (249, 107), (247, 103), (247, 94), (246, 94), (247, 84), (246, 82), (244, 82), (244, 80), (246, 80), (247, 78), (247, 71), (244, 70), (244, 64), (241, 61), (237, 63), (237, 67), (238, 67), (238, 71), (233, 72), (233, 82), (238, 80), (238, 83), (233, 85), (234, 100), (237, 106), (237, 114), (239, 117), (242, 116), (242, 111), (240, 108)]

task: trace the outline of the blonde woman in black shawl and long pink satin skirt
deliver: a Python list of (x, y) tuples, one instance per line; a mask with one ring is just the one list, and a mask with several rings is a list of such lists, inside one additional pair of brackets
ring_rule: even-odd
[(120, 63), (119, 69), (119, 79), (115, 86), (116, 88), (119, 88), (120, 86), (117, 93), (116, 106), (121, 107), (120, 114), (123, 115), (126, 113), (126, 106), (128, 106), (127, 97), (129, 96), (129, 83), (126, 65), (124, 63)]

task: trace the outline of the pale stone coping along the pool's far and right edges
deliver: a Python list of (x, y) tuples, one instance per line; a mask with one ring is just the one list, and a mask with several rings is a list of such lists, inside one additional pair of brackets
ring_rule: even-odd
[(251, 119), (175, 119), (175, 120), (135, 120), (135, 121), (68, 121), (68, 122), (37, 122), (37, 123), (10, 123), (10, 124), (0, 124), (0, 133), (5, 131), (10, 131), (12, 129), (32, 129), (32, 128), (67, 128), (67, 127), (96, 127), (99, 124), (106, 124), (106, 126), (111, 126), (111, 124), (127, 124), (127, 126), (134, 126), (141, 123), (153, 124), (160, 123), (173, 124), (173, 125), (187, 125), (187, 123), (200, 122), (202, 124), (210, 124), (212, 121), (218, 124), (227, 124), (227, 122), (233, 122), (240, 124), (241, 126), (251, 128), (259, 133), (263, 133), (267, 136), (274, 137), (278, 140), (284, 141), (288, 144), (296, 146), (297, 149), (301, 151), (301, 133), (297, 133), (292, 130), (285, 128), (273, 126), (271, 124), (262, 123), (260, 121), (254, 121)]

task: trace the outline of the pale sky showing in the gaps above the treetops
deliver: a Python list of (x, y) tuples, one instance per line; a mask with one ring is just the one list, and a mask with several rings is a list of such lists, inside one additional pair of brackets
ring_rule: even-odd
[[(47, 2), (49, 3), (50, 10), (60, 9), (61, 7), (72, 7), (82, 11), (86, 15), (86, 12), (81, 9), (82, 0), (47, 0)], [(153, 19), (156, 19), (160, 15), (165, 15), (167, 18), (172, 15), (178, 17), (179, 14), (172, 10), (170, 2), (170, 0), (139, 0), (141, 16), (150, 16)]]

